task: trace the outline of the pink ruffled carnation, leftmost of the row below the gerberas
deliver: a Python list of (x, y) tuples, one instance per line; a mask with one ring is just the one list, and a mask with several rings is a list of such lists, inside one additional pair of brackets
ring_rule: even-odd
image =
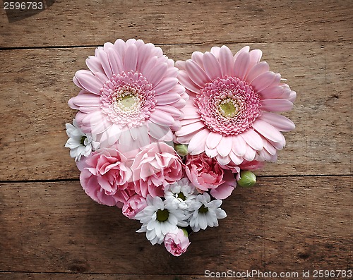
[(119, 205), (133, 195), (133, 186), (127, 183), (132, 176), (130, 165), (118, 150), (97, 150), (80, 161), (80, 183), (92, 200), (109, 206)]

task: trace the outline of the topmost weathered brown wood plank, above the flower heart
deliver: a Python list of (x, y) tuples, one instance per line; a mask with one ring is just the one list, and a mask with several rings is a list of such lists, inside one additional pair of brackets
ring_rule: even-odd
[(352, 40), (353, 2), (53, 1), (42, 11), (0, 11), (1, 47)]

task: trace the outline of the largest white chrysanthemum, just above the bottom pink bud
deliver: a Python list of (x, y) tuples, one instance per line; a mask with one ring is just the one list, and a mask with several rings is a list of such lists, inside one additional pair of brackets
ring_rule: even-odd
[(152, 245), (162, 244), (164, 236), (177, 230), (178, 226), (188, 226), (184, 212), (174, 203), (150, 195), (147, 196), (146, 202), (147, 207), (135, 216), (135, 219), (143, 224), (136, 232), (145, 232)]

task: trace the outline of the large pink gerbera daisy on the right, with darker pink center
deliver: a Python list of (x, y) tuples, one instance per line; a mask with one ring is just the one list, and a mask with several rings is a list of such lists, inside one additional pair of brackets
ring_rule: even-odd
[(294, 123), (274, 112), (289, 111), (296, 92), (260, 62), (262, 51), (244, 47), (233, 56), (226, 46), (177, 61), (186, 102), (177, 141), (191, 154), (205, 152), (222, 164), (275, 161), (285, 146), (281, 131)]

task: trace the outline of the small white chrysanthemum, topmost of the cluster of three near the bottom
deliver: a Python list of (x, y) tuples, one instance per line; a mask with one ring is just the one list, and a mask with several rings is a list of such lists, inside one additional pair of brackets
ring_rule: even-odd
[(191, 202), (196, 200), (196, 188), (188, 178), (182, 178), (164, 188), (164, 197), (177, 205), (179, 209), (185, 210), (189, 208)]

